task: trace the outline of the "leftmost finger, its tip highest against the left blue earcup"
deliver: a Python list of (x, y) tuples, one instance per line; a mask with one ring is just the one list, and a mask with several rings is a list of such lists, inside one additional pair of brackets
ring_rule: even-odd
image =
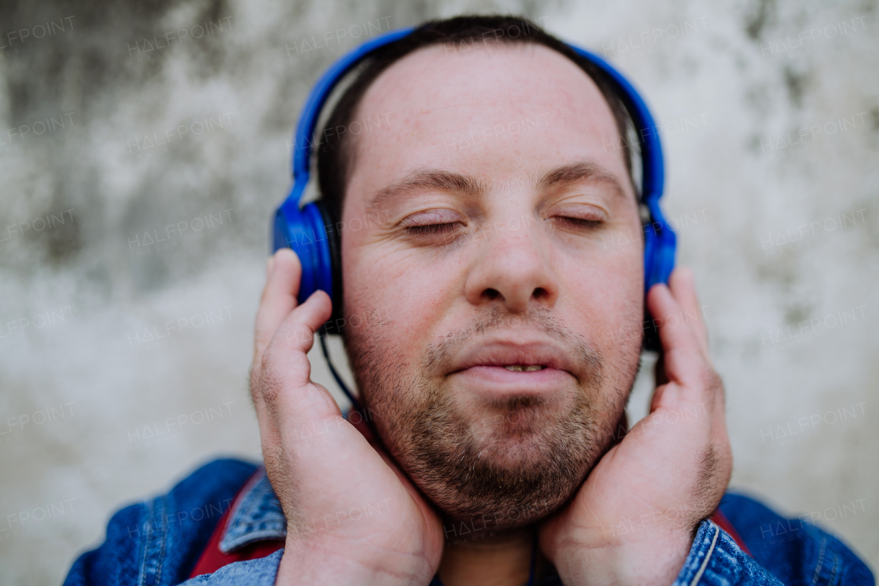
[(254, 336), (253, 362), (256, 365), (272, 340), (272, 335), (296, 307), (302, 272), (299, 257), (289, 248), (281, 248), (274, 253), (266, 269), (269, 275), (263, 297), (259, 300)]

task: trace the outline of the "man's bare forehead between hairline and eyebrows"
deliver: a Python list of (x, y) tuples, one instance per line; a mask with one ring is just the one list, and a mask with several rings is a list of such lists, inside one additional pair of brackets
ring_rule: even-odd
[(628, 186), (614, 114), (598, 86), (564, 55), (533, 43), (419, 49), (375, 79), (353, 121), (364, 123), (346, 200), (425, 167), (490, 183), (588, 159)]

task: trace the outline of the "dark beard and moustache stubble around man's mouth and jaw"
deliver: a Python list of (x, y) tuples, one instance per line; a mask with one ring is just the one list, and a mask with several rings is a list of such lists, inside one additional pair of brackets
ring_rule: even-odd
[(498, 309), (487, 311), (469, 328), (430, 344), (414, 368), (389, 336), (392, 328), (382, 327), (391, 322), (345, 332), (360, 395), (382, 441), (453, 523), (482, 519), (484, 525), (488, 519), (494, 529), (506, 530), (561, 508), (618, 438), (614, 430), (635, 383), (637, 359), (634, 368), (608, 368), (598, 348), (548, 311), (529, 311), (516, 316), (517, 329), (548, 334), (584, 367), (575, 377), (570, 407), (559, 410), (534, 395), (515, 396), (490, 405), (505, 413), (502, 421), (498, 415), (483, 417), (479, 425), (478, 417), (462, 413), (446, 375), (456, 346), (503, 331), (510, 318)]

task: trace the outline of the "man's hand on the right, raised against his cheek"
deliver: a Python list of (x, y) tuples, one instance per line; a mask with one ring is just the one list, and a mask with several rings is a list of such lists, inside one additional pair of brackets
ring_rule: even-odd
[(650, 289), (647, 304), (663, 348), (650, 414), (541, 526), (541, 550), (569, 586), (671, 584), (730, 480), (723, 384), (692, 273), (675, 270), (668, 287)]

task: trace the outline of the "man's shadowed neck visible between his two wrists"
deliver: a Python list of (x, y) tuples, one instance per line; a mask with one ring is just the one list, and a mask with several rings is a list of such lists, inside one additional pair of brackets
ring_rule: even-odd
[(445, 586), (522, 586), (528, 581), (534, 538), (531, 527), (448, 538), (439, 579)]

